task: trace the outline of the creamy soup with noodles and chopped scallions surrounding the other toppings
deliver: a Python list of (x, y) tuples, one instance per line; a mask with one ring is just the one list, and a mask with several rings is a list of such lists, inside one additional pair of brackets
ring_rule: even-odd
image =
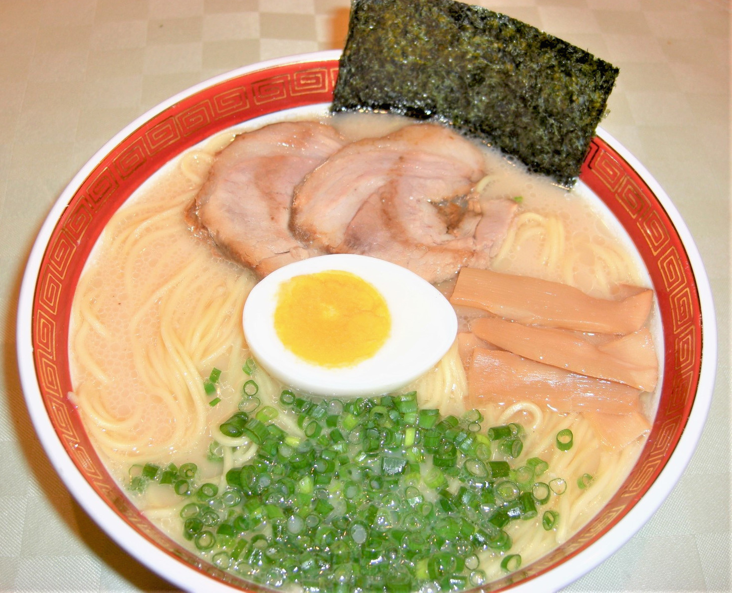
[[(386, 116), (324, 121), (351, 140), (403, 125)], [(234, 135), (188, 151), (120, 208), (75, 293), (71, 397), (132, 502), (181, 545), (270, 586), (292, 583), (290, 570), (309, 589), (378, 589), (384, 574), (397, 591), (463, 589), (526, 566), (572, 537), (627, 477), (646, 431), (613, 446), (582, 413), (468, 399), (457, 341), (433, 369), (383, 401), (308, 396), (253, 360), (242, 309), (256, 277), (220, 257), (187, 218), (214, 155)], [(485, 158), (490, 173), (479, 182), (481, 200), (518, 203), (493, 271), (569, 284), (599, 298), (621, 298), (627, 284), (649, 285), (627, 236), (581, 184), (566, 192), (488, 149)], [(438, 290), (450, 295), (454, 286), (453, 279)], [(455, 312), (462, 332), (485, 314), (464, 306)], [(651, 327), (658, 337), (653, 317)], [(309, 417), (308, 407), (321, 410), (322, 419)], [(649, 426), (651, 393), (643, 393), (641, 407)], [(258, 419), (256, 430), (242, 431), (251, 418)], [(469, 467), (450, 466), (452, 453), (439, 462), (442, 453), (425, 454), (425, 435), (446, 419), (442, 434), (473, 439)], [(365, 436), (368, 422), (377, 426), (380, 449)], [(267, 425), (275, 428), (268, 432)], [(388, 438), (384, 426), (391, 426)], [(263, 465), (262, 447), (275, 433), (271, 459), (278, 465)], [(318, 442), (321, 435), (330, 436)], [(295, 474), (279, 491), (270, 488), (280, 483), (277, 472), (311, 450), (325, 459), (323, 474)], [(396, 465), (384, 457), (397, 458)], [(261, 473), (242, 470), (265, 466)], [(461, 490), (504, 469), (503, 486), (494, 483), (496, 492), (482, 499)], [(268, 498), (246, 491), (245, 479)], [(519, 500), (535, 509), (489, 524), (501, 504), (518, 513), (512, 501)], [(463, 514), (453, 521), (451, 513)], [(430, 531), (436, 525), (440, 535)], [(417, 531), (431, 535), (420, 541)], [(296, 543), (318, 553), (296, 556)], [(305, 560), (293, 566), (288, 557)], [(390, 562), (391, 573), (379, 572)]]

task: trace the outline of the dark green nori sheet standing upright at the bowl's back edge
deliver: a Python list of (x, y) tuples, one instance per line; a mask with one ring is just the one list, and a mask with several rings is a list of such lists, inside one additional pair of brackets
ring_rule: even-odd
[(572, 186), (619, 70), (452, 0), (352, 0), (332, 109), (438, 117)]

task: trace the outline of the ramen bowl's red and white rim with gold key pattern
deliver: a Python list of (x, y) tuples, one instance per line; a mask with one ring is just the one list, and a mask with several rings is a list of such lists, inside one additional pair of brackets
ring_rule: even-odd
[[(157, 529), (130, 502), (87, 436), (72, 391), (72, 300), (97, 238), (125, 200), (167, 162), (247, 121), (276, 121), (332, 99), (337, 52), (237, 69), (163, 102), (113, 137), (53, 206), (26, 268), (18, 306), (18, 360), (26, 402), (48, 457), (94, 521), (132, 556), (182, 589), (259, 590)], [(259, 119), (258, 119), (259, 118)], [(490, 590), (550, 591), (579, 578), (640, 529), (670, 493), (701, 435), (717, 359), (712, 295), (701, 258), (671, 200), (602, 129), (580, 182), (627, 231), (657, 295), (664, 360), (651, 433), (627, 480), (566, 543)]]

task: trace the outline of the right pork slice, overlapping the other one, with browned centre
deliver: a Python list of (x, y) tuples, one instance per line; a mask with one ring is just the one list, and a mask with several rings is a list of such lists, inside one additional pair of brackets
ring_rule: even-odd
[[(441, 282), (487, 264), (491, 237), (504, 232), (483, 221), (472, 193), (484, 175), (473, 143), (444, 126), (406, 126), (351, 143), (310, 173), (295, 190), (291, 227), (327, 252), (380, 257)], [(498, 208), (506, 227), (512, 208)]]

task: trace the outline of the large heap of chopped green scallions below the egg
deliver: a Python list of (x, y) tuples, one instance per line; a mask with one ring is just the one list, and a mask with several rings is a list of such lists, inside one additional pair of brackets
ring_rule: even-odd
[[(534, 481), (545, 462), (512, 467), (520, 425), (485, 431), (478, 410), (441, 417), (418, 409), (414, 392), (328, 401), (285, 389), (277, 409), (263, 407), (258, 390), (247, 379), (240, 411), (219, 427), (257, 445), (228, 469), (225, 488), (204, 483), (195, 464), (130, 472), (142, 485), (157, 480), (195, 494), (180, 511), (184, 537), (215, 566), (236, 566), (265, 585), (276, 571), (277, 583), (338, 593), (482, 586), (485, 551), (504, 555), (504, 570), (520, 566), (507, 526), (535, 517), (550, 494)], [(304, 437), (277, 426), (283, 414)], [(212, 447), (213, 458), (223, 457), (221, 445)], [(407, 564), (414, 570), (392, 568)]]

